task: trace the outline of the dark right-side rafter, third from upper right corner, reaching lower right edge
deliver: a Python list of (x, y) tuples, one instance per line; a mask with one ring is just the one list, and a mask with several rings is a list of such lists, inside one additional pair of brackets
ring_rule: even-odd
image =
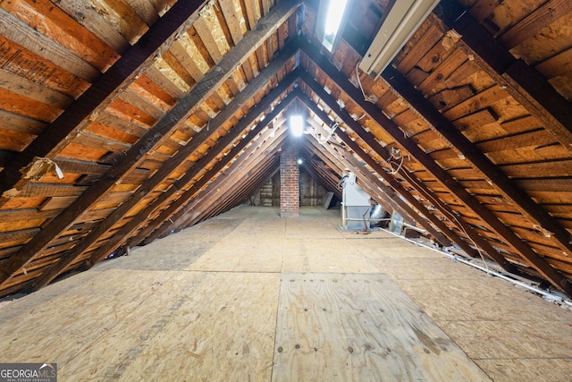
[(534, 252), (526, 242), (523, 242), (517, 235), (512, 232), (508, 226), (504, 225), (488, 208), (481, 205), (478, 200), (470, 195), (460, 184), (458, 184), (445, 170), (442, 169), (433, 158), (425, 154), (421, 148), (416, 145), (414, 140), (404, 137), (399, 126), (387, 118), (380, 109), (373, 104), (367, 103), (363, 100), (363, 95), (359, 89), (356, 89), (345, 76), (338, 72), (338, 70), (327, 60), (323, 55), (320, 55), (315, 47), (310, 46), (308, 43), (303, 43), (302, 48), (304, 52), (310, 57), (311, 60), (321, 66), (321, 69), (334, 81), (340, 89), (342, 89), (354, 102), (357, 103), (367, 115), (374, 121), (379, 123), (383, 129), (388, 132), (391, 137), (400, 143), (400, 145), (408, 151), (408, 153), (415, 157), (416, 160), (425, 166), (425, 168), (435, 176), (436, 179), (442, 183), (447, 189), (457, 195), (467, 207), (472, 209), (477, 216), (483, 220), (487, 225), (499, 235), (502, 240), (507, 242), (511, 248), (524, 259), (531, 267), (534, 267), (543, 277), (546, 278), (551, 284), (556, 286), (560, 291), (572, 296), (572, 284), (568, 279), (563, 276), (557, 269), (543, 259), (542, 256)]

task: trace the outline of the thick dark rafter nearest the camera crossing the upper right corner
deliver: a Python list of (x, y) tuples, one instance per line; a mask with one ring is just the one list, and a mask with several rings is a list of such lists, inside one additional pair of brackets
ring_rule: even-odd
[[(568, 3), (568, 2), (567, 2)], [(510, 96), (538, 118), (555, 140), (572, 152), (572, 106), (545, 78), (516, 59), (456, 1), (441, 3), (442, 20), (461, 35), (458, 47), (497, 81)]]

